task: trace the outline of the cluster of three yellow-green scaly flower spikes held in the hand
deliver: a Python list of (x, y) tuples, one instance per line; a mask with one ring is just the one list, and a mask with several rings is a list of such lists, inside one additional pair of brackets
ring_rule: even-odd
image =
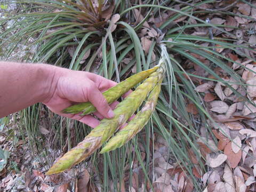
[[(162, 45), (163, 47), (163, 45)], [(163, 47), (165, 49), (165, 47)], [(153, 113), (159, 92), (161, 90), (161, 83), (163, 81), (163, 76), (165, 73), (165, 59), (164, 55), (162, 54), (158, 66), (154, 67), (153, 69), (149, 69), (147, 71), (142, 71), (137, 75), (133, 75), (130, 78), (126, 79), (126, 81), (117, 84), (113, 88), (109, 89), (105, 92), (108, 93), (109, 98), (107, 101), (109, 103), (115, 101), (117, 97), (120, 97), (122, 94), (125, 93), (125, 90), (128, 91), (132, 88), (134, 84), (138, 84), (141, 79), (143, 79), (143, 74), (149, 75), (149, 77), (140, 84), (135, 91), (129, 94), (122, 102), (120, 102), (114, 110), (115, 117), (113, 119), (103, 119), (100, 124), (95, 127), (89, 135), (85, 137), (85, 139), (78, 143), (78, 145), (68, 151), (63, 157), (61, 157), (52, 167), (51, 169), (46, 172), (46, 174), (54, 174), (60, 173), (69, 169), (71, 166), (82, 162), (86, 157), (91, 155), (96, 149), (98, 149), (103, 142), (107, 141), (111, 135), (122, 125), (126, 123), (126, 121), (133, 115), (133, 113), (140, 107), (143, 100), (146, 99), (147, 95), (149, 94), (148, 100), (145, 103), (145, 106), (141, 109), (140, 113), (135, 116), (135, 118), (124, 127), (123, 130), (117, 133), (115, 137), (111, 139), (107, 146), (101, 150), (101, 153), (104, 153), (110, 149), (115, 149), (117, 146), (121, 147), (124, 145), (125, 142), (129, 141), (136, 133), (138, 133), (143, 126), (148, 122), (151, 114)], [(148, 76), (147, 75), (147, 76)], [(138, 78), (140, 77), (140, 78)], [(126, 89), (122, 89), (123, 85), (126, 85)], [(118, 96), (114, 96), (111, 99), (111, 93), (115, 93), (113, 90), (122, 90)], [(124, 90), (124, 91), (123, 91)], [(110, 102), (111, 100), (111, 102)], [(84, 104), (85, 108), (81, 108), (81, 104), (72, 106), (74, 108), (79, 108), (76, 110), (76, 113), (87, 111), (87, 106), (90, 104)], [(68, 111), (71, 107), (65, 109)], [(83, 112), (84, 113), (84, 112)], [(85, 113), (87, 114), (87, 112)], [(130, 131), (130, 132), (127, 132)], [(120, 140), (120, 135), (121, 139)], [(124, 137), (122, 137), (124, 135)], [(117, 142), (116, 142), (117, 140)], [(117, 146), (113, 147), (113, 142), (116, 143)]]

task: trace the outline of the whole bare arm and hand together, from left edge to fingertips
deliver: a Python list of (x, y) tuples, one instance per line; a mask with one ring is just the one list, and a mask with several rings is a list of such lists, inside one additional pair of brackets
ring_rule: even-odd
[[(116, 85), (99, 75), (46, 64), (0, 61), (0, 118), (37, 102), (61, 116), (76, 119), (91, 127), (99, 120), (92, 115), (63, 114), (61, 110), (77, 102), (90, 101), (98, 118), (113, 118), (118, 102), (108, 105), (102, 92)], [(129, 93), (127, 93), (129, 94)]]

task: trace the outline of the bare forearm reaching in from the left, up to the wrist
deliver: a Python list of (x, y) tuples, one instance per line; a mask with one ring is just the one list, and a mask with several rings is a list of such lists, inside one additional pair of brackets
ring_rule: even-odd
[(54, 66), (0, 61), (0, 118), (47, 100)]

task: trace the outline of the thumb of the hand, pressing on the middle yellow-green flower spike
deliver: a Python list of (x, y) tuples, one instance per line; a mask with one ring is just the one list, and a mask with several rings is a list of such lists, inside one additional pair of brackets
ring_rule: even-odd
[(92, 83), (89, 90), (86, 91), (88, 100), (99, 111), (99, 113), (105, 118), (113, 118), (115, 116), (113, 110), (108, 105), (107, 100), (103, 97), (98, 87)]

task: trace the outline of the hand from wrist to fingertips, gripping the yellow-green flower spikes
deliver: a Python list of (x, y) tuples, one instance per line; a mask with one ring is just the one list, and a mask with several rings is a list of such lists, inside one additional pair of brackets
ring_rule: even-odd
[(55, 68), (49, 97), (43, 103), (56, 114), (96, 127), (99, 120), (92, 115), (63, 114), (61, 111), (77, 102), (90, 101), (97, 109), (93, 113), (95, 116), (100, 119), (113, 118), (115, 114), (111, 108), (114, 109), (118, 102), (109, 106), (102, 92), (116, 84), (93, 73)]

